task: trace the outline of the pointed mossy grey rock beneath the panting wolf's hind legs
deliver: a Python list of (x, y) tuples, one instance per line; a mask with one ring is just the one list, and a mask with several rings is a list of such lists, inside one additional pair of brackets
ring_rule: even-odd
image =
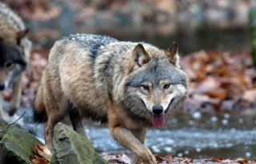
[(54, 154), (52, 164), (106, 164), (87, 138), (82, 137), (65, 124), (54, 127)]

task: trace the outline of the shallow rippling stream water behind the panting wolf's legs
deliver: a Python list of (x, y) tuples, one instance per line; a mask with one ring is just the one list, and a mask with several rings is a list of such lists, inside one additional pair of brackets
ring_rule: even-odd
[[(22, 108), (13, 122), (26, 110), (25, 116), (17, 122), (22, 129), (35, 134), (43, 141), (43, 126), (32, 122), (31, 110)], [(84, 122), (95, 149), (99, 152), (129, 152), (118, 146), (111, 138), (106, 126)], [(179, 113), (166, 120), (161, 130), (150, 129), (146, 146), (154, 154), (171, 154), (190, 158), (256, 158), (256, 115), (238, 113)]]

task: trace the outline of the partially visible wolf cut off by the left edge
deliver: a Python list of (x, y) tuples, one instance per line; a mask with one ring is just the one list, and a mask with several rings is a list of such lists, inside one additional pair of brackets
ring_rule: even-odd
[[(31, 42), (22, 19), (0, 2), (0, 92), (12, 84), (13, 94), (8, 113), (13, 115), (19, 107), (22, 72), (26, 69)], [(0, 118), (2, 118), (0, 103)]]

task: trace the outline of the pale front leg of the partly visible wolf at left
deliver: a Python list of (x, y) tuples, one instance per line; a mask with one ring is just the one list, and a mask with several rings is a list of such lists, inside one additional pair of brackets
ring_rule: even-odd
[(18, 110), (20, 105), (20, 99), (22, 95), (22, 74), (19, 75), (16, 82), (14, 82), (13, 86), (13, 95), (11, 97), (10, 106), (8, 109), (8, 114), (10, 116), (14, 115)]

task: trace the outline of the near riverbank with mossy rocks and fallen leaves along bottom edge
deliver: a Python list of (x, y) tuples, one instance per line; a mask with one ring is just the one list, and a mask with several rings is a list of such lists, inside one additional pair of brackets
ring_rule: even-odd
[[(19, 121), (19, 120), (18, 120)], [(7, 163), (34, 163), (48, 164), (59, 163), (110, 163), (125, 164), (130, 163), (130, 154), (98, 154), (87, 138), (78, 135), (69, 126), (58, 123), (54, 127), (54, 145), (52, 152), (43, 146), (33, 135), (25, 130), (18, 129), (16, 125), (7, 125), (0, 120), (0, 162)], [(8, 152), (8, 153), (7, 153)], [(174, 157), (170, 154), (160, 156), (154, 154), (158, 164), (247, 164), (256, 163), (256, 160), (246, 158), (182, 158)], [(105, 160), (104, 160), (105, 159)]]

